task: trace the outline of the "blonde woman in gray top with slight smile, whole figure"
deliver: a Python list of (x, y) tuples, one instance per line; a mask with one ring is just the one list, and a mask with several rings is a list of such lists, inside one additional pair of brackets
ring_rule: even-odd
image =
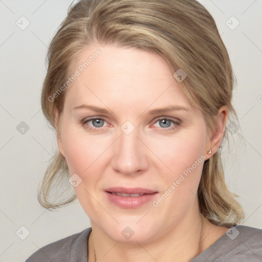
[[(201, 4), (82, 0), (48, 57), (42, 110), (59, 152), (39, 202), (77, 198), (92, 228), (27, 262), (262, 260), (262, 230), (239, 225), (224, 180), (233, 73)], [(54, 202), (68, 180), (75, 195)]]

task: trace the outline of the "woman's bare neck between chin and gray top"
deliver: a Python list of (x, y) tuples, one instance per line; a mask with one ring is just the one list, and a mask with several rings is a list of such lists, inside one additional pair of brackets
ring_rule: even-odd
[[(137, 242), (135, 244), (114, 241), (103, 234), (93, 223), (92, 233), (89, 238), (88, 260), (90, 262), (149, 262), (152, 261), (152, 259), (166, 262), (190, 261), (210, 245), (210, 243), (206, 243), (206, 233), (210, 229), (209, 224), (211, 223), (199, 214), (198, 219), (194, 219), (190, 227), (183, 227), (183, 232), (176, 229), (156, 241), (147, 243)], [(216, 227), (214, 225), (212, 226)], [(181, 229), (181, 226), (179, 225), (178, 228)]]

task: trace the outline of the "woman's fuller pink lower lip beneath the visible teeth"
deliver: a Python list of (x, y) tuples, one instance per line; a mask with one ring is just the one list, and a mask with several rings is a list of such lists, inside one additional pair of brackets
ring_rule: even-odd
[(142, 205), (153, 201), (156, 198), (157, 192), (152, 194), (143, 194), (139, 197), (121, 197), (117, 194), (105, 192), (107, 198), (115, 205), (121, 208), (138, 208)]

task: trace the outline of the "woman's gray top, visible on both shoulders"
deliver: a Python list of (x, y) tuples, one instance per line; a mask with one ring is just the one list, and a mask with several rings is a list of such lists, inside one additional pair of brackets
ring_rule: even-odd
[[(26, 262), (87, 262), (92, 228), (37, 250)], [(190, 262), (262, 262), (262, 230), (237, 225)]]

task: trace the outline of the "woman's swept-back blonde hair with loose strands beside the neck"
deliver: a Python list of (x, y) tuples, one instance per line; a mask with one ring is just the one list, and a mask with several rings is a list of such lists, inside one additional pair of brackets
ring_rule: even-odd
[[(178, 84), (189, 101), (199, 106), (210, 129), (214, 128), (215, 116), (223, 105), (228, 107), (229, 117), (232, 115), (237, 120), (231, 103), (235, 79), (229, 55), (213, 17), (200, 3), (81, 0), (74, 6), (71, 4), (47, 55), (41, 106), (58, 136), (67, 90), (57, 92), (72, 74), (75, 59), (93, 43), (151, 52), (164, 58), (171, 72), (182, 69), (187, 77)], [(228, 140), (227, 127), (224, 140)], [(198, 188), (199, 206), (201, 214), (212, 224), (232, 226), (244, 219), (244, 212), (235, 199), (237, 195), (225, 183), (220, 149), (221, 146), (204, 163)], [(61, 201), (53, 199), (59, 187), (69, 185), (69, 177), (67, 163), (57, 151), (38, 191), (39, 203), (51, 210), (75, 200), (75, 194)]]

